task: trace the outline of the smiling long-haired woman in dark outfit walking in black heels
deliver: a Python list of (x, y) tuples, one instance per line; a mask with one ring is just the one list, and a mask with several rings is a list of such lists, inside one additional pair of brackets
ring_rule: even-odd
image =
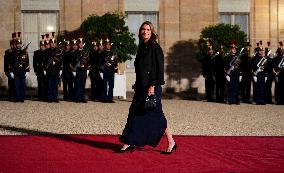
[[(167, 128), (161, 104), (161, 94), (164, 82), (164, 54), (157, 43), (157, 34), (153, 24), (144, 22), (139, 29), (139, 45), (134, 62), (136, 82), (134, 97), (129, 108), (127, 123), (120, 136), (124, 143), (121, 152), (130, 151), (134, 146), (150, 145), (156, 147), (165, 133), (168, 148), (163, 154), (170, 154), (177, 145)], [(145, 108), (147, 96), (156, 97), (154, 109)]]

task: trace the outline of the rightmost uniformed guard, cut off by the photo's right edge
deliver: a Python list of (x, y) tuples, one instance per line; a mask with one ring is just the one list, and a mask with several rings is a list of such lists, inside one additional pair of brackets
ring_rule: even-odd
[(278, 105), (284, 105), (284, 56), (280, 47), (276, 51), (276, 57), (273, 59), (273, 72), (275, 74), (275, 102)]

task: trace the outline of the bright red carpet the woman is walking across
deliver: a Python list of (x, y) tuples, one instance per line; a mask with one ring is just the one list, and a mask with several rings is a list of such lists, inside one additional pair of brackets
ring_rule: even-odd
[(0, 136), (0, 172), (284, 172), (284, 137), (175, 136), (177, 152), (115, 153), (118, 136)]

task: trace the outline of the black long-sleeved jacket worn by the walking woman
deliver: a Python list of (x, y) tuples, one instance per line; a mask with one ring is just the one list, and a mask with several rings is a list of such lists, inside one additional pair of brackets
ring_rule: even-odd
[(150, 39), (147, 43), (141, 42), (134, 61), (136, 82), (135, 87), (163, 85), (164, 81), (164, 54), (160, 45)]

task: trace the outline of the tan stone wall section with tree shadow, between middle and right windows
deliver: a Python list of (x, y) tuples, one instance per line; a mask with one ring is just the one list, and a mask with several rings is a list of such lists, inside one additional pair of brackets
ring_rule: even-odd
[[(217, 22), (217, 0), (160, 1), (160, 43), (166, 56), (167, 88), (175, 92), (191, 89), (200, 75), (196, 41), (205, 26)], [(201, 85), (195, 82), (195, 86)]]

